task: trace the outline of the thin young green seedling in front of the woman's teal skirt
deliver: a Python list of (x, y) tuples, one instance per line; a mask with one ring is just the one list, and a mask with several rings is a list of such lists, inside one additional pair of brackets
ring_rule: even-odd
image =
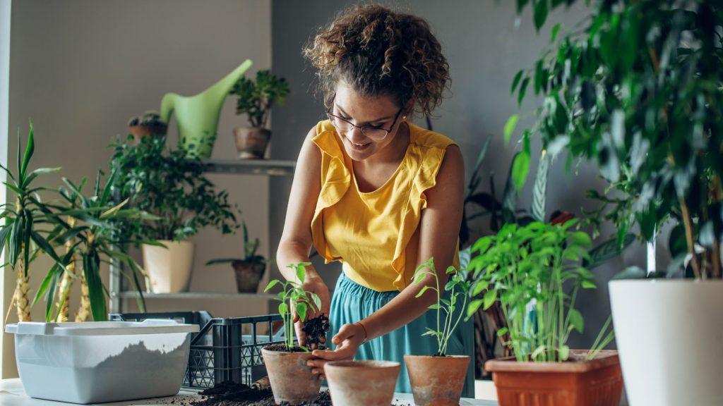
[[(435, 329), (427, 327), (427, 331), (422, 336), (431, 335), (437, 339), (437, 355), (440, 356), (447, 355), (447, 345), (450, 337), (452, 337), (464, 315), (463, 309), (467, 305), (470, 286), (465, 269), (457, 270), (455, 267), (448, 267), (446, 274), (448, 275), (448, 281), (442, 290), (440, 288), (440, 277), (435, 270), (434, 259), (429, 258), (427, 262), (416, 268), (412, 280), (413, 283), (421, 284), (427, 276), (435, 278), (435, 285), (424, 285), (416, 294), (416, 298), (424, 295), (427, 290), (434, 290), (437, 293), (437, 303), (429, 306), (430, 310), (437, 311), (437, 327)], [(443, 298), (445, 292), (449, 292), (448, 298)], [(461, 306), (458, 298), (460, 295), (462, 295)], [(456, 315), (455, 310), (457, 310)], [(467, 319), (471, 315), (469, 314)]]

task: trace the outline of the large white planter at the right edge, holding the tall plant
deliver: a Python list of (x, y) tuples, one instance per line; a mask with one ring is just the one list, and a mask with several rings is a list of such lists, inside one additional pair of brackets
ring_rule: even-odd
[(613, 280), (609, 290), (630, 405), (723, 405), (723, 281)]

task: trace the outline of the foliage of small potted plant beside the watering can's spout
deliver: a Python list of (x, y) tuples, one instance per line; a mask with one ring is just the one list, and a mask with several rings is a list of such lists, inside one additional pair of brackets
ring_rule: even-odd
[(229, 94), (238, 96), (236, 114), (247, 114), (252, 126), (265, 128), (271, 107), (283, 104), (288, 92), (286, 79), (262, 69), (255, 80), (241, 77)]

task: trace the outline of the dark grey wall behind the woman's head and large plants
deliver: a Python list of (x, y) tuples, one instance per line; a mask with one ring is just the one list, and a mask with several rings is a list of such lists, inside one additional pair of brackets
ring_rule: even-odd
[[(438, 117), (432, 125), (435, 131), (451, 137), (461, 146), (468, 176), (482, 142), (486, 137), (492, 137), (483, 174), (486, 178), (494, 174), (496, 189), (501, 191), (516, 147), (514, 143), (505, 145), (501, 136), (507, 118), (518, 111), (515, 100), (510, 96), (510, 83), (518, 69), (534, 64), (547, 44), (549, 30), (555, 22), (573, 27), (586, 15), (586, 9), (576, 7), (556, 12), (542, 32), (537, 34), (532, 25), (531, 10), (526, 10), (518, 18), (515, 1), (415, 0), (385, 3), (419, 15), (432, 25), (442, 43), (452, 75), (451, 92), (437, 110)], [(283, 144), (283, 149), (276, 147), (273, 150), (274, 157), (294, 159), (304, 135), (322, 119), (321, 100), (315, 98), (312, 92), (315, 83), (313, 69), (302, 58), (301, 48), (313, 35), (315, 27), (330, 21), (344, 4), (352, 2), (277, 0), (272, 4), (274, 72), (291, 82), (291, 96), (274, 116), (275, 143), (277, 146)], [(526, 100), (521, 112), (531, 113), (537, 101)], [(423, 125), (424, 121), (418, 120), (418, 123)], [(539, 145), (536, 148), (539, 150)], [(531, 163), (531, 168), (536, 168), (536, 162)], [(594, 207), (593, 202), (584, 199), (584, 191), (602, 190), (604, 182), (594, 168), (584, 163), (576, 166), (573, 173), (565, 173), (563, 157), (552, 165), (548, 187), (548, 215), (555, 209), (579, 214), (583, 207), (588, 210)], [(521, 192), (519, 207), (529, 208), (530, 190), (530, 185), (527, 185)], [(288, 185), (273, 181), (270, 194), (270, 234), (272, 241), (278, 241), (283, 228), (284, 198), (288, 194)], [(483, 222), (476, 223), (474, 227), (480, 231), (485, 228)], [(606, 281), (609, 277), (624, 265), (642, 266), (644, 261), (644, 250), (636, 247), (629, 249), (622, 258), (595, 270), (599, 289), (586, 291), (579, 299), (586, 328), (582, 337), (573, 337), (573, 347), (589, 346), (607, 318)], [(319, 266), (327, 280), (333, 280), (338, 275), (336, 264)]]

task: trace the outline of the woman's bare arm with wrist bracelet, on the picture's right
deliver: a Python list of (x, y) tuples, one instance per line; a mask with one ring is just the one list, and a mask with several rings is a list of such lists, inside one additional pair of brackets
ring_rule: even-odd
[[(435, 187), (425, 191), (427, 208), (422, 211), (419, 223), (419, 250), (416, 264), (435, 259), (435, 269), (440, 285), (447, 281), (447, 268), (452, 264), (459, 228), (462, 223), (464, 199), (464, 161), (459, 147), (447, 148), (442, 161)], [(435, 278), (427, 275), (422, 283), (409, 285), (385, 306), (355, 324), (346, 324), (333, 337), (337, 345), (335, 351), (316, 350), (318, 358), (312, 360), (315, 373), (323, 374), (323, 364), (328, 360), (351, 359), (356, 354), (366, 334), (367, 340), (380, 337), (403, 327), (427, 311), (427, 307), (436, 303), (437, 294), (427, 290), (420, 298), (415, 298), (424, 285), (435, 286)]]

